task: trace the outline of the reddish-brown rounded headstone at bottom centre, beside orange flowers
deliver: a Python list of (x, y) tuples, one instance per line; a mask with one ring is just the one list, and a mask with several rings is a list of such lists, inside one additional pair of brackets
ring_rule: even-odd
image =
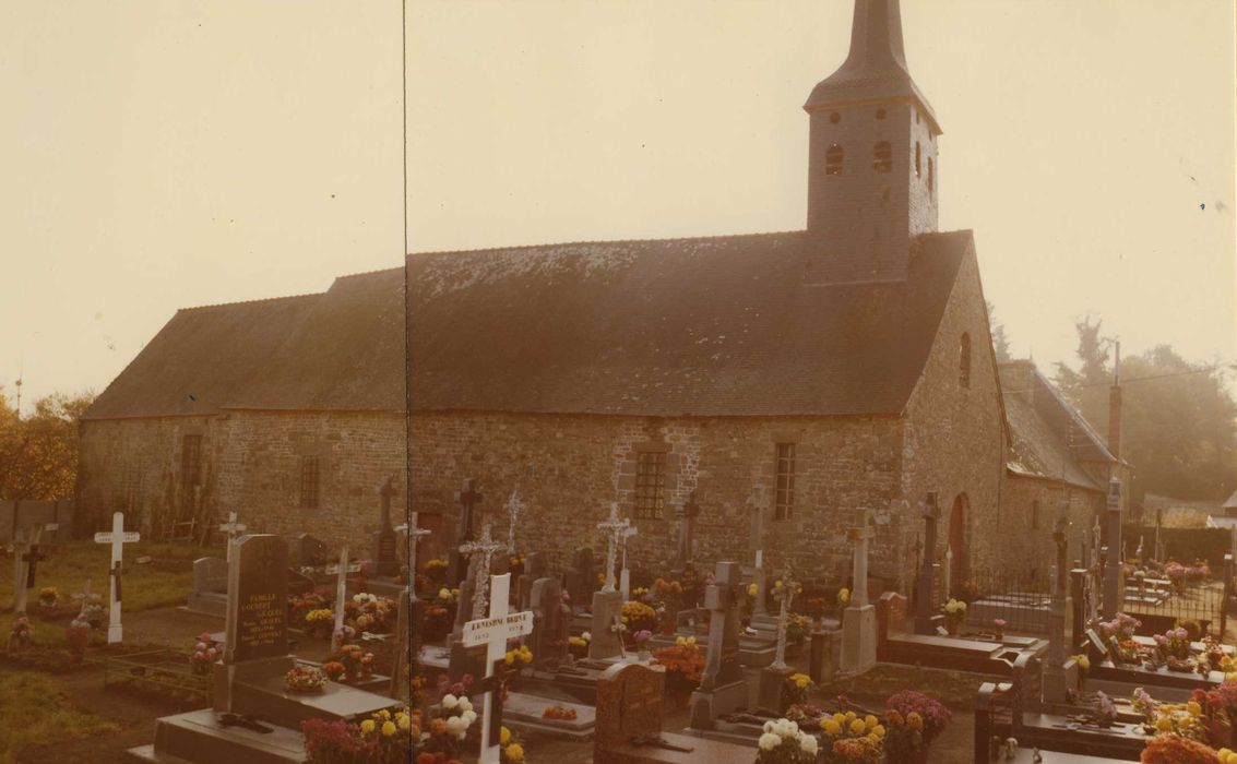
[(611, 758), (611, 752), (633, 738), (659, 739), (664, 695), (666, 669), (662, 666), (620, 663), (606, 669), (597, 677), (594, 764), (627, 762), (626, 758)]

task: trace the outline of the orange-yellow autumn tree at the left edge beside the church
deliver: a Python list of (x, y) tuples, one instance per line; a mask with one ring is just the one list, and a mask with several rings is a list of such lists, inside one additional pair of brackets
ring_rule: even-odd
[(21, 418), (0, 389), (0, 499), (59, 499), (73, 496), (78, 465), (78, 420), (93, 393), (57, 393)]

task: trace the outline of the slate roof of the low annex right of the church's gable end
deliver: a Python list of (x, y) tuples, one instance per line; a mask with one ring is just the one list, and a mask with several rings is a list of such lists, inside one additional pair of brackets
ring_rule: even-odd
[(1103, 441), (1029, 361), (1001, 363), (1001, 393), (1009, 422), (1011, 472), (1103, 491), (1080, 466), (1115, 461)]

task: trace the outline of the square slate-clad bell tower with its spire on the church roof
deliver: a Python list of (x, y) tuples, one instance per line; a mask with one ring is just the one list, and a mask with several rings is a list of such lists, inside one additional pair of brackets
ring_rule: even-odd
[(936, 230), (940, 125), (910, 79), (898, 0), (855, 0), (850, 54), (803, 109), (813, 283), (904, 281)]

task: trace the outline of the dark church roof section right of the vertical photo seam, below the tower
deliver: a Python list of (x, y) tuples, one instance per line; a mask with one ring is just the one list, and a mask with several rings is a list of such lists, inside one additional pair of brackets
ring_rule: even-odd
[(907, 281), (805, 286), (803, 231), (408, 257), (423, 410), (901, 414), (970, 231)]

